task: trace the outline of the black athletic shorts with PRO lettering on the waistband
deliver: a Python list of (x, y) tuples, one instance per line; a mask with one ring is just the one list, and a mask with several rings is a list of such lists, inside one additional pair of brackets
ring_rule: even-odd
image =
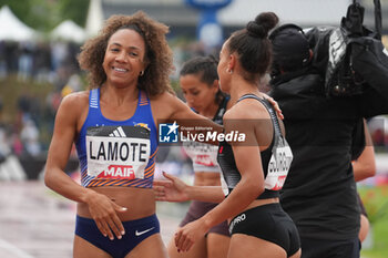
[(280, 204), (267, 204), (245, 210), (231, 220), (229, 233), (254, 236), (280, 246), (287, 256), (300, 248), (298, 230)]

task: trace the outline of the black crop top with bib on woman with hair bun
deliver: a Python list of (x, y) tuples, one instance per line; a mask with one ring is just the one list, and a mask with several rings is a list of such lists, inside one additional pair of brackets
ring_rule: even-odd
[[(274, 125), (272, 143), (268, 148), (261, 152), (265, 190), (262, 195), (257, 196), (257, 199), (278, 197), (278, 192), (283, 188), (293, 161), (293, 153), (282, 134), (273, 106), (267, 101), (253, 94), (242, 96), (238, 102), (245, 99), (259, 101), (267, 109)], [(241, 180), (241, 174), (236, 166), (232, 146), (226, 141), (219, 142), (217, 159), (231, 194)]]

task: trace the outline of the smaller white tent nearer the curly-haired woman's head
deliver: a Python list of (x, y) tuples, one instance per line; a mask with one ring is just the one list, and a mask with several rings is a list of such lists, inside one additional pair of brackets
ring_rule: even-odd
[(82, 43), (86, 38), (84, 29), (82, 29), (71, 20), (65, 20), (61, 22), (55, 29), (51, 31), (50, 35), (51, 39), (54, 40), (62, 39), (78, 43)]

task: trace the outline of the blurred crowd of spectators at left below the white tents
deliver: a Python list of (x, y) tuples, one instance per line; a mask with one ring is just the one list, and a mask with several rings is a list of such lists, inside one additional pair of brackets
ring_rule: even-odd
[[(14, 42), (0, 41), (0, 81), (14, 78), (18, 83), (50, 84), (51, 92), (45, 100), (31, 91), (24, 91), (17, 99), (17, 117), (13, 124), (2, 123), (2, 132), (12, 153), (39, 156), (47, 149), (40, 137), (41, 127), (52, 131), (53, 117), (64, 93), (81, 89), (76, 54), (80, 45), (72, 42)], [(3, 83), (2, 86), (6, 85)], [(1, 96), (2, 99), (7, 96)], [(0, 100), (0, 112), (3, 110)], [(7, 153), (7, 151), (0, 151)]]

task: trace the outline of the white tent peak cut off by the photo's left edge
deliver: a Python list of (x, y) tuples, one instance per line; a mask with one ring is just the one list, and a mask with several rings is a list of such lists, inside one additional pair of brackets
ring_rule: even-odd
[(0, 9), (0, 40), (25, 41), (35, 35), (37, 32), (21, 22), (8, 6)]

